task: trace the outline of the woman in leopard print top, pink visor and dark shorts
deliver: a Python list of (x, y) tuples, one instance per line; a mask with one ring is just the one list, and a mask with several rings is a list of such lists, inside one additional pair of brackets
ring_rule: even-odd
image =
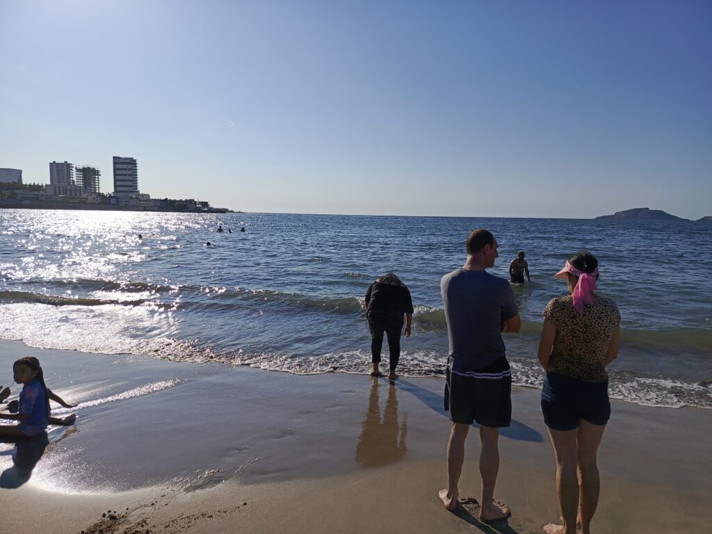
[(588, 252), (569, 258), (555, 278), (570, 295), (544, 310), (538, 358), (546, 370), (541, 407), (556, 454), (563, 525), (549, 534), (588, 534), (600, 493), (598, 446), (611, 413), (605, 368), (618, 355), (620, 314), (596, 295), (598, 261)]

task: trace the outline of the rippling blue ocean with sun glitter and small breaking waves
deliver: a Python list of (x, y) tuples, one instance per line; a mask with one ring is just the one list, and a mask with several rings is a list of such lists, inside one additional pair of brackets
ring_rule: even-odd
[(522, 332), (505, 335), (516, 384), (540, 387), (541, 313), (566, 293), (553, 274), (586, 249), (600, 262), (600, 293), (622, 315), (611, 396), (712, 407), (712, 226), (695, 222), (2, 209), (0, 339), (296, 375), (365, 373), (363, 295), (392, 271), (415, 306), (399, 375), (444, 375), (439, 281), (464, 263), (478, 227), (500, 244), (491, 273), (507, 278), (518, 251), (530, 266), (532, 283), (513, 286)]

